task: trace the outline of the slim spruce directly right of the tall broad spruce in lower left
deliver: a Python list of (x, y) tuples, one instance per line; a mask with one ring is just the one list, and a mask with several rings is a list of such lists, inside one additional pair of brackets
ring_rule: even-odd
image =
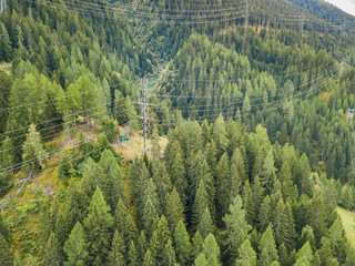
[(126, 249), (129, 248), (131, 241), (136, 242), (138, 239), (138, 228), (133, 221), (133, 217), (129, 209), (126, 208), (122, 198), (119, 200), (119, 204), (114, 212), (115, 217), (115, 228), (122, 236)]

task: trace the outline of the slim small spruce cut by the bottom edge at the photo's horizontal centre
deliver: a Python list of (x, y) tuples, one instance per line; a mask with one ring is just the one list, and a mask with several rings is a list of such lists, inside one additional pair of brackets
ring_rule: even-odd
[(186, 232), (186, 227), (182, 221), (179, 222), (174, 232), (174, 241), (176, 246), (178, 262), (181, 265), (190, 265), (192, 246), (190, 242), (190, 236)]

